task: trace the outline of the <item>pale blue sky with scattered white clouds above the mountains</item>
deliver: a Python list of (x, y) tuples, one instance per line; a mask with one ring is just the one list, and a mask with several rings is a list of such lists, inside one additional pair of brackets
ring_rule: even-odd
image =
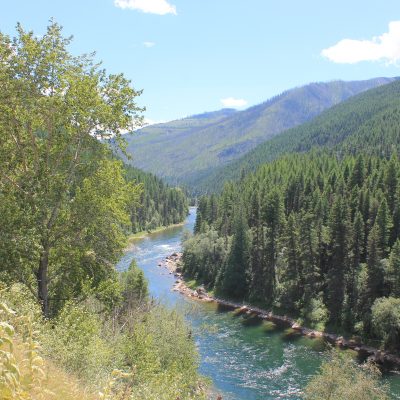
[(0, 0), (0, 31), (50, 18), (124, 73), (148, 122), (243, 109), (310, 82), (400, 76), (398, 0)]

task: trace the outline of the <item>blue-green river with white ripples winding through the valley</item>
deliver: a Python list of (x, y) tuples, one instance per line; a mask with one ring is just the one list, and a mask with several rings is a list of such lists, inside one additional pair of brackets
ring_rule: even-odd
[[(173, 275), (158, 263), (181, 249), (185, 230), (192, 231), (196, 210), (184, 226), (138, 239), (117, 265), (128, 268), (133, 258), (144, 271), (150, 294), (178, 307), (187, 316), (200, 353), (200, 372), (210, 377), (224, 400), (300, 399), (300, 391), (326, 356), (324, 343), (273, 329), (271, 323), (246, 320), (215, 304), (199, 303), (171, 291)], [(400, 399), (400, 377), (385, 378), (394, 399)]]

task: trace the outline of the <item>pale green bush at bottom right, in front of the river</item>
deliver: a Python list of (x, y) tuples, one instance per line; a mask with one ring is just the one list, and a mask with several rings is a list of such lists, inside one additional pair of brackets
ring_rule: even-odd
[(386, 400), (388, 389), (379, 382), (379, 371), (369, 364), (357, 365), (346, 355), (332, 353), (320, 373), (307, 384), (305, 400)]

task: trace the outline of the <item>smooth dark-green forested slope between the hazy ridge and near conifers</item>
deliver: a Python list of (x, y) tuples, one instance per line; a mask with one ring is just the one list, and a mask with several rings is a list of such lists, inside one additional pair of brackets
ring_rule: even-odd
[(338, 104), (312, 121), (289, 129), (243, 157), (192, 181), (199, 193), (219, 191), (259, 165), (288, 153), (323, 148), (336, 154), (390, 156), (400, 149), (400, 80)]

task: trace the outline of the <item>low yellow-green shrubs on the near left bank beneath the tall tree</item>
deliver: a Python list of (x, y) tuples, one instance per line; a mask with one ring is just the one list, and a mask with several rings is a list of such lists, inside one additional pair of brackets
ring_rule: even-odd
[[(26, 347), (27, 358), (18, 366), (23, 368), (18, 379), (24, 379), (24, 382), (14, 379), (13, 382), (18, 384), (16, 388), (21, 391), (46, 390), (47, 378), (39, 365), (44, 359), (63, 368), (70, 377), (78, 377), (91, 391), (101, 391), (100, 398), (204, 399), (205, 384), (197, 372), (198, 354), (189, 328), (176, 311), (143, 299), (142, 293), (147, 292), (147, 287), (144, 283), (138, 285), (138, 275), (137, 267), (132, 264), (121, 277), (119, 285), (123, 301), (112, 312), (92, 296), (79, 304), (67, 303), (57, 318), (50, 321), (43, 320), (40, 305), (22, 285), (3, 289), (1, 344), (5, 341), (9, 344), (15, 337), (20, 347)], [(125, 298), (127, 293), (129, 297)], [(131, 302), (131, 298), (135, 298), (135, 302)], [(15, 343), (13, 340), (11, 344)], [(2, 393), (5, 387), (2, 376), (10, 377), (7, 371), (11, 366), (4, 369), (1, 363), (12, 361), (15, 364), (17, 359), (10, 356), (3, 360), (5, 353), (0, 353)], [(37, 367), (36, 372), (26, 370), (27, 365)], [(31, 397), (5, 398), (22, 400)]]

